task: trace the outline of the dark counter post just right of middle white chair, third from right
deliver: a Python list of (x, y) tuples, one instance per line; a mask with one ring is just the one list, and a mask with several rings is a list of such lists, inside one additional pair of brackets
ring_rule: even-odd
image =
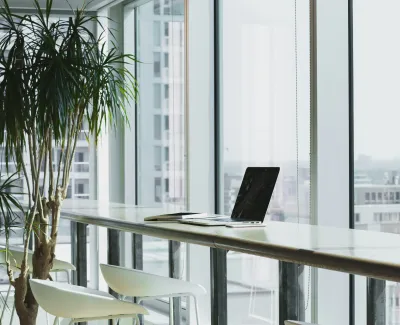
[(211, 325), (228, 324), (227, 251), (211, 248)]

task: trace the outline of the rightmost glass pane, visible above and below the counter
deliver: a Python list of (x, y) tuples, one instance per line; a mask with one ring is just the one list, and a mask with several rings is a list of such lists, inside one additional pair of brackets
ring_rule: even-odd
[[(357, 229), (400, 234), (400, 31), (396, 0), (354, 0), (354, 210)], [(373, 22), (373, 23), (372, 23)], [(357, 277), (357, 324), (365, 278)], [(386, 324), (399, 324), (400, 289), (386, 282)], [(381, 319), (376, 320), (382, 323)], [(382, 323), (383, 324), (383, 323)]]

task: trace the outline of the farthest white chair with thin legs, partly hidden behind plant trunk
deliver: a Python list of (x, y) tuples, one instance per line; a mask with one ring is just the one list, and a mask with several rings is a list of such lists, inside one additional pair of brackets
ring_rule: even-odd
[[(0, 250), (1, 250), (0, 251), (0, 266), (6, 267), (7, 260), (6, 260), (5, 247), (0, 247)], [(24, 257), (24, 251), (22, 248), (13, 247), (13, 248), (8, 249), (8, 259), (10, 261), (10, 267), (13, 272), (19, 272), (19, 270), (21, 269), (21, 263), (22, 263), (23, 257)], [(29, 251), (28, 252), (28, 266), (29, 266), (30, 273), (33, 270), (32, 257), (33, 257), (33, 252)], [(75, 270), (76, 270), (76, 268), (73, 264), (62, 261), (62, 260), (54, 259), (53, 260), (53, 268), (51, 269), (51, 273), (65, 272), (67, 275), (67, 281), (68, 281), (68, 283), (70, 283), (70, 272), (75, 271)], [(4, 312), (7, 307), (7, 300), (8, 300), (8, 297), (10, 296), (11, 287), (12, 286), (10, 284), (8, 286), (6, 298), (4, 299), (4, 305), (3, 305), (3, 310), (1, 311), (0, 319), (3, 319), (3, 315), (4, 315)], [(11, 312), (10, 324), (13, 321), (14, 314), (15, 314), (15, 306), (13, 307), (13, 310)]]

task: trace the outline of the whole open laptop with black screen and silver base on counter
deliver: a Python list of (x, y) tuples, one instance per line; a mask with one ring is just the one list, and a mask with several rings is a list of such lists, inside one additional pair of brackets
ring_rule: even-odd
[(230, 223), (262, 224), (279, 171), (279, 167), (248, 167), (230, 217), (213, 216), (179, 222), (200, 226), (225, 226)]

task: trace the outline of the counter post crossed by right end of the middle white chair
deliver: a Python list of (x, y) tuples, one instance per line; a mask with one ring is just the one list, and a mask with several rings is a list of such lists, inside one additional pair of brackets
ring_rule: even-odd
[[(181, 276), (181, 243), (168, 242), (169, 277), (179, 279)], [(170, 298), (170, 325), (180, 325), (182, 322), (181, 298)]]

